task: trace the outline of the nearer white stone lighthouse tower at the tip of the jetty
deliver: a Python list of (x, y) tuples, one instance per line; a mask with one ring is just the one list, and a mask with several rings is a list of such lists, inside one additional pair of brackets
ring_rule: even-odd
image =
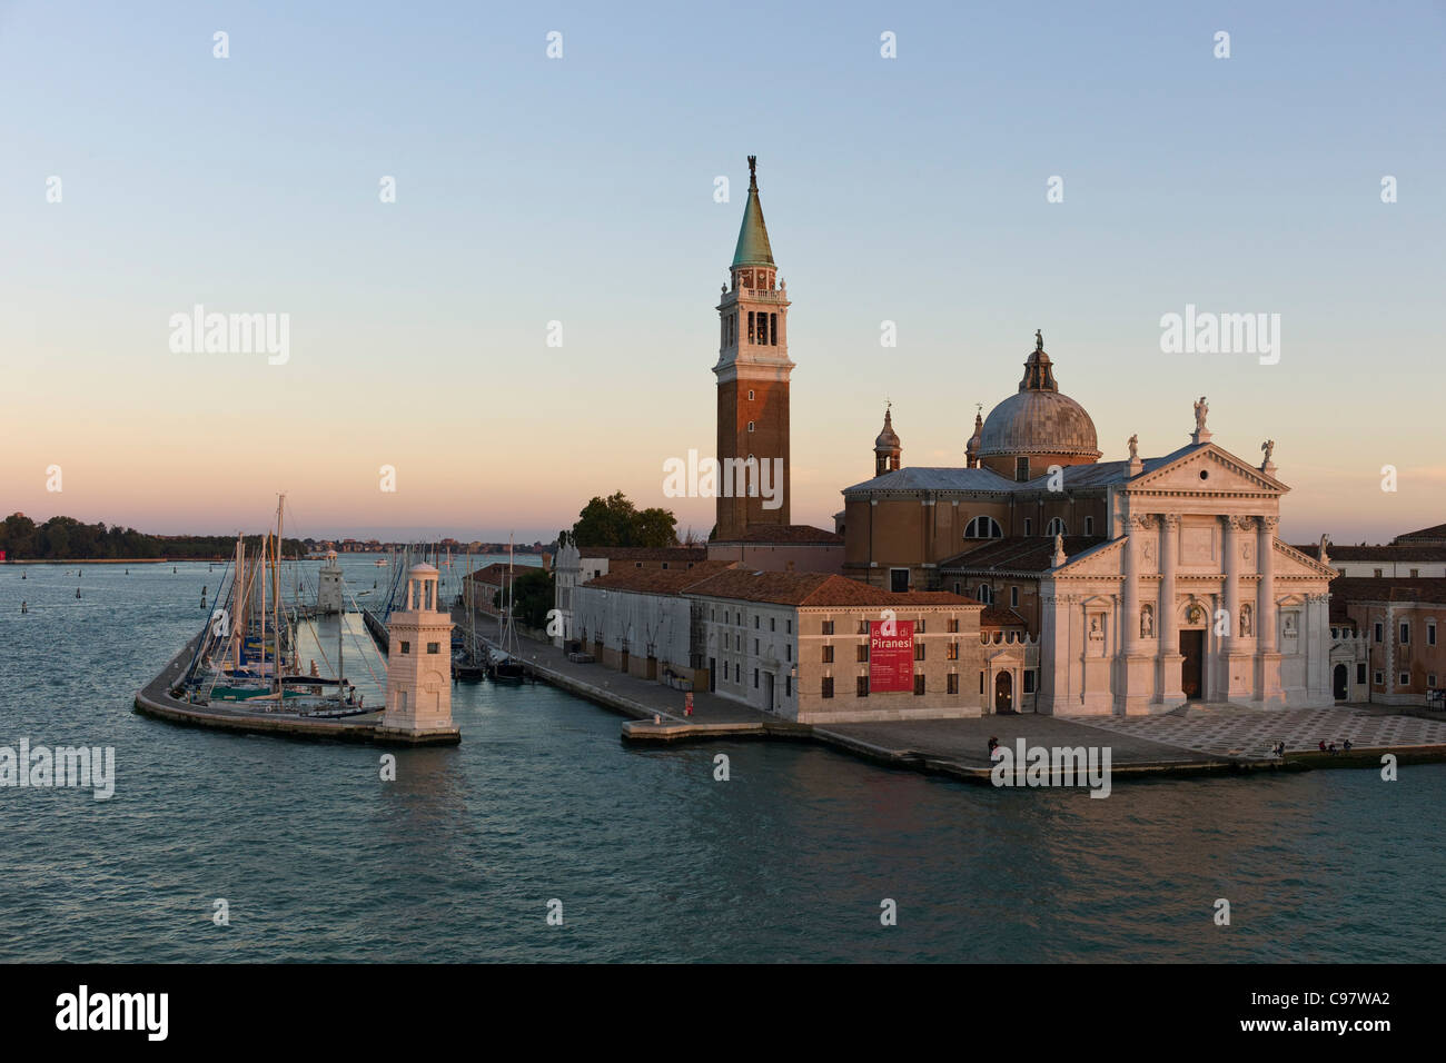
[(451, 722), (451, 616), (438, 609), (437, 570), (406, 573), (403, 607), (388, 625), (386, 712), (376, 738), (395, 742), (457, 742)]

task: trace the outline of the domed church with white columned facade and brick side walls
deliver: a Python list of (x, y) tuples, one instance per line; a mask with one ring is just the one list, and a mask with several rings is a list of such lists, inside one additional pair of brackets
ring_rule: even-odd
[(1330, 704), (1336, 573), (1275, 537), (1288, 487), (1274, 441), (1252, 464), (1212, 440), (1207, 415), (1202, 396), (1190, 441), (1163, 457), (1131, 437), (1128, 458), (1100, 461), (1035, 333), (1018, 390), (975, 418), (963, 467), (904, 466), (885, 414), (873, 476), (836, 518), (844, 574), (1015, 613), (1038, 639), (1019, 710)]

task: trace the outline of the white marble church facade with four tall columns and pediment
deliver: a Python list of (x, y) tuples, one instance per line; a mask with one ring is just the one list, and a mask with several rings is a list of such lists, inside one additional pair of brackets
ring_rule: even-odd
[(1271, 471), (1209, 444), (1111, 492), (1111, 539), (1040, 581), (1040, 712), (1332, 704), (1335, 573), (1277, 539)]

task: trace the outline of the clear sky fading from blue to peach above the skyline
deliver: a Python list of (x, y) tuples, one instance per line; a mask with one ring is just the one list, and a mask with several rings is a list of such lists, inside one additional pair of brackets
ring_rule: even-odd
[[(886, 401), (963, 464), (1038, 328), (1105, 460), (1206, 395), (1284, 538), (1439, 524), (1443, 51), (1440, 1), (0, 0), (0, 511), (545, 541), (623, 490), (706, 535), (662, 464), (714, 445), (756, 155), (795, 522)], [(285, 360), (187, 350), (195, 305)], [(1187, 305), (1278, 314), (1278, 360), (1164, 351)]]

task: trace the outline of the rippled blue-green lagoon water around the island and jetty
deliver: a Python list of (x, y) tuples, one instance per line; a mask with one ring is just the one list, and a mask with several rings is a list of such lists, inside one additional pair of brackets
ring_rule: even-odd
[(593, 704), (477, 684), (454, 687), (463, 743), (398, 751), (382, 782), (372, 746), (132, 713), (221, 573), (171, 568), (0, 565), (0, 745), (117, 759), (110, 801), (0, 788), (0, 960), (1434, 962), (1446, 943), (1443, 765), (1092, 800), (810, 745), (638, 751)]

